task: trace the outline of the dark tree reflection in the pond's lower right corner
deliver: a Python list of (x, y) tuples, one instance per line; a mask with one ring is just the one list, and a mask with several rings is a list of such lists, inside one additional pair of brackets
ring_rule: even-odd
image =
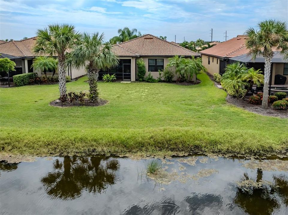
[[(261, 169), (257, 169), (256, 182), (260, 182), (262, 176)], [(255, 187), (251, 193), (238, 188), (234, 202), (248, 214), (272, 214), (280, 208), (282, 202), (288, 206), (287, 176), (274, 175), (273, 179), (274, 183), (269, 187)]]

